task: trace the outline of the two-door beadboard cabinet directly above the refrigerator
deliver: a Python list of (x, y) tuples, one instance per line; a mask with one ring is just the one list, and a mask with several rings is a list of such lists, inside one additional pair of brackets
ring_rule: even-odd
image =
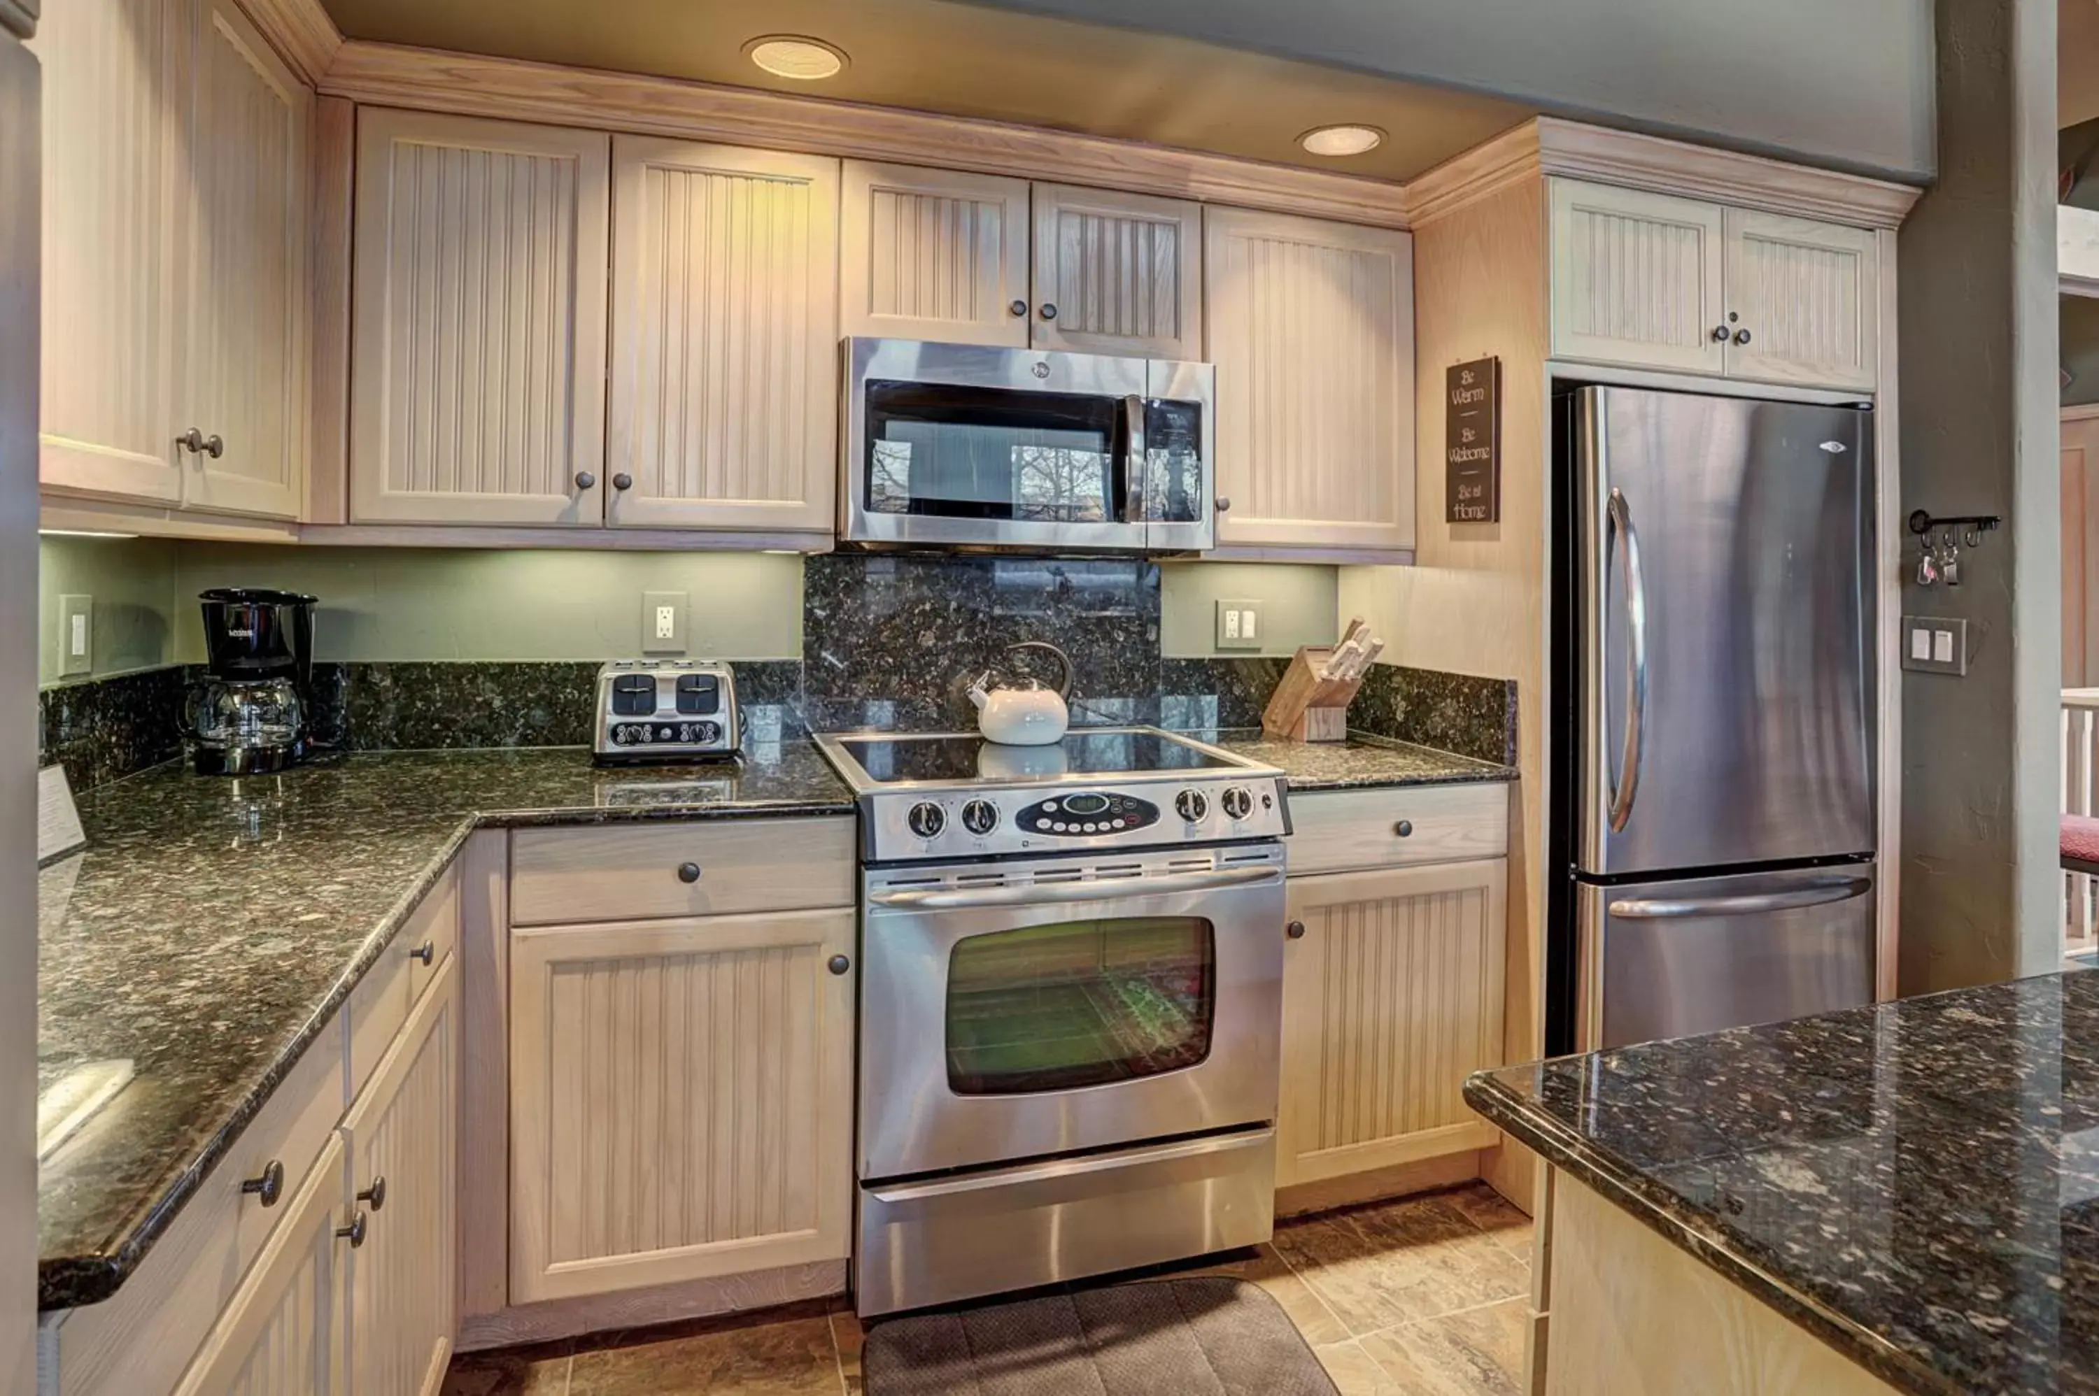
[(1553, 357), (1870, 390), (1866, 229), (1551, 181)]

